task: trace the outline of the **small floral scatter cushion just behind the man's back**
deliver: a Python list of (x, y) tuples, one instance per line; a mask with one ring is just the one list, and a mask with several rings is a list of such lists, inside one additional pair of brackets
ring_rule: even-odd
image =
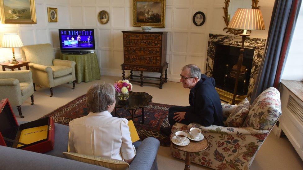
[(241, 127), (246, 119), (249, 111), (249, 101), (247, 98), (243, 99), (239, 105), (230, 113), (225, 126), (227, 127)]

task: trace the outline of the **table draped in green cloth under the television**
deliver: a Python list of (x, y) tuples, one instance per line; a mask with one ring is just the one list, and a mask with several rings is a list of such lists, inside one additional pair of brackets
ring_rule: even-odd
[(60, 59), (75, 61), (75, 73), (77, 83), (101, 79), (100, 68), (96, 53), (90, 54), (62, 54)]

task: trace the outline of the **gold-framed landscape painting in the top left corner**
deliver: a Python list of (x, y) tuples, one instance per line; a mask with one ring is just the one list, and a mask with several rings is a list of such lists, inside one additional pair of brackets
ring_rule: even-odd
[(2, 24), (36, 24), (35, 0), (0, 0)]

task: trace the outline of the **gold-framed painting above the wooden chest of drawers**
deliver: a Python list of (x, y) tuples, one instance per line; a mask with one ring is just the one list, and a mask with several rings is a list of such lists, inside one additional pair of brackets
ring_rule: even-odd
[(133, 0), (133, 26), (165, 27), (166, 0)]

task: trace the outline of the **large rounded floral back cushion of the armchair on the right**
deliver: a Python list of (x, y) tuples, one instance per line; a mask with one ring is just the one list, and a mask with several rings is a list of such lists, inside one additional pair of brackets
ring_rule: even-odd
[(242, 127), (270, 130), (281, 114), (280, 92), (270, 87), (252, 103)]

